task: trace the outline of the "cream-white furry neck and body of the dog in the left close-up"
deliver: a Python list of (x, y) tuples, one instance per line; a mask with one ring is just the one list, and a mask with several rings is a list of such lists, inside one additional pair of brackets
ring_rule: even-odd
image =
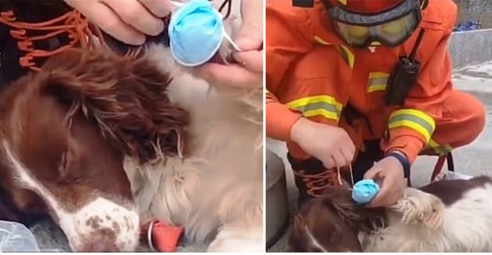
[(142, 219), (182, 225), (209, 251), (264, 252), (261, 84), (221, 90), (175, 66), (168, 49), (153, 46), (148, 56), (172, 74), (168, 96), (191, 123), (185, 158), (125, 160)]

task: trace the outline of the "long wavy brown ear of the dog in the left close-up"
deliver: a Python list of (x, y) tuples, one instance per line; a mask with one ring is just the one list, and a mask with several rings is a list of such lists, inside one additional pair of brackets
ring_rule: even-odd
[(188, 115), (173, 105), (170, 78), (145, 57), (103, 50), (69, 50), (51, 57), (38, 73), (41, 91), (81, 110), (123, 153), (141, 163), (179, 153)]

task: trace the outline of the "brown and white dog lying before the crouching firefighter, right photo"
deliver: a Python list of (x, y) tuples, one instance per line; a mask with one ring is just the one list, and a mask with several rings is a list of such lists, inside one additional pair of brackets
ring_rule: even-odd
[(295, 216), (294, 252), (490, 252), (492, 178), (439, 180), (388, 208), (355, 205), (346, 187)]

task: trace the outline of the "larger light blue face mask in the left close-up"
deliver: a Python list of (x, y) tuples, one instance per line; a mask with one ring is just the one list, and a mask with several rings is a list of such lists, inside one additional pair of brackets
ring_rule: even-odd
[(191, 0), (172, 14), (168, 27), (171, 53), (184, 66), (199, 66), (214, 57), (225, 37), (222, 15), (208, 0)]

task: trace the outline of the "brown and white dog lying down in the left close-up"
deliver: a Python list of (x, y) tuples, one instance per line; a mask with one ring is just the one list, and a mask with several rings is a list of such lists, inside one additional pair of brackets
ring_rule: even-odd
[(159, 219), (209, 251), (262, 252), (261, 85), (208, 84), (158, 45), (64, 52), (0, 96), (1, 186), (74, 251), (133, 251)]

